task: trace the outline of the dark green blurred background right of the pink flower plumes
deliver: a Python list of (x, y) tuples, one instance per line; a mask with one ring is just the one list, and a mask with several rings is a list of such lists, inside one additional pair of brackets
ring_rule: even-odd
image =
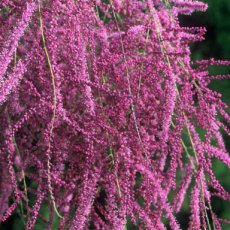
[[(190, 16), (181, 16), (182, 26), (202, 26), (207, 28), (205, 41), (191, 44), (192, 60), (209, 59), (230, 60), (230, 0), (203, 0), (209, 7), (205, 13), (196, 12)], [(211, 67), (211, 75), (230, 74), (228, 67)], [(230, 106), (230, 79), (214, 80), (210, 88), (222, 94), (222, 100)], [(228, 110), (230, 112), (230, 109)], [(221, 118), (220, 118), (221, 119)], [(227, 124), (226, 124), (227, 125)], [(228, 124), (228, 127), (230, 125)], [(230, 152), (230, 138), (223, 132), (226, 148)], [(217, 160), (213, 161), (214, 174), (224, 188), (230, 192), (229, 169)], [(221, 199), (212, 199), (212, 208), (218, 217), (230, 220), (230, 203)], [(189, 205), (185, 205), (181, 215), (182, 228), (187, 229)], [(224, 230), (230, 225), (223, 224)]]

